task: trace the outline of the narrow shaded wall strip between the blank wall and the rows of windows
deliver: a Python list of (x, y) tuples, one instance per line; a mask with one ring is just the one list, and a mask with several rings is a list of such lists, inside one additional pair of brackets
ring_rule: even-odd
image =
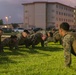
[(47, 4), (47, 28), (55, 26), (55, 4)]

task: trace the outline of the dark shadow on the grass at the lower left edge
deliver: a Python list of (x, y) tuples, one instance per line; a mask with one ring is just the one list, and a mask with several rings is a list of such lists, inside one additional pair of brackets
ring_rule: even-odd
[[(10, 55), (22, 55), (21, 53), (15, 51), (15, 52), (2, 52), (0, 53), (0, 64), (9, 64), (9, 63), (17, 63), (16, 61), (12, 60), (12, 58), (9, 58)], [(12, 57), (13, 57), (12, 56)]]

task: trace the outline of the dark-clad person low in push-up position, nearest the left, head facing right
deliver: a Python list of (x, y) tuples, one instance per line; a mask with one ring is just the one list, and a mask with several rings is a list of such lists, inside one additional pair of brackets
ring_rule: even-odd
[(3, 47), (8, 46), (10, 50), (18, 49), (18, 40), (17, 36), (11, 35), (10, 37), (5, 38), (2, 41)]

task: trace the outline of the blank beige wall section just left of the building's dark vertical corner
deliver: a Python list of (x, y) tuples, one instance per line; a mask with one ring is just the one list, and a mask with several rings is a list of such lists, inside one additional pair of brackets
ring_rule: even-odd
[(46, 29), (46, 3), (35, 3), (35, 26)]

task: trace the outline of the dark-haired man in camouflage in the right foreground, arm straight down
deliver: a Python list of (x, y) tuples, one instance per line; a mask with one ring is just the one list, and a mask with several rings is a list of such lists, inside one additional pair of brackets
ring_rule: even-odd
[(69, 28), (70, 25), (67, 22), (61, 23), (59, 27), (59, 34), (63, 37), (62, 42), (66, 67), (70, 67), (71, 65), (72, 43), (74, 41), (74, 37), (69, 34)]

